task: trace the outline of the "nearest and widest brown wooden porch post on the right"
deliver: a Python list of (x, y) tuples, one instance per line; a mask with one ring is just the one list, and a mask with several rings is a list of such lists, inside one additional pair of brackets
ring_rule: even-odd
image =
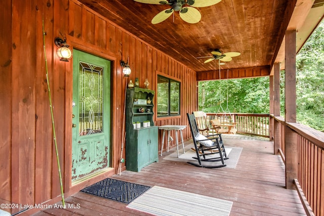
[[(296, 30), (286, 31), (285, 37), (285, 121), (296, 123)], [(294, 188), (297, 179), (297, 134), (285, 126), (286, 188)]]

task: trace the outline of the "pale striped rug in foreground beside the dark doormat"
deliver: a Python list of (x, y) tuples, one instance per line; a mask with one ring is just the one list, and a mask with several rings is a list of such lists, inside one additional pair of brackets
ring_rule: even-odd
[(127, 208), (153, 215), (228, 216), (232, 201), (154, 186)]

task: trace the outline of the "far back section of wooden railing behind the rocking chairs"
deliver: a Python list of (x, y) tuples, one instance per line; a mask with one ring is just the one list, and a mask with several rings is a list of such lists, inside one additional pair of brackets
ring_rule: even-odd
[(269, 138), (269, 114), (207, 113), (208, 120), (218, 118), (221, 123), (236, 122), (238, 134)]

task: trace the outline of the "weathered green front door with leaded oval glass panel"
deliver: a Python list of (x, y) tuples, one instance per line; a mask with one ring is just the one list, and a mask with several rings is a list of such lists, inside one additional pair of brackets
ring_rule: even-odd
[(72, 181), (109, 167), (110, 61), (73, 50)]

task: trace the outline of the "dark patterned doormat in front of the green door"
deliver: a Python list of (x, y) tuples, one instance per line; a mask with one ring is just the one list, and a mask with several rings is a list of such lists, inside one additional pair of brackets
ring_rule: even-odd
[(149, 188), (149, 186), (107, 178), (82, 189), (81, 191), (102, 198), (129, 204)]

